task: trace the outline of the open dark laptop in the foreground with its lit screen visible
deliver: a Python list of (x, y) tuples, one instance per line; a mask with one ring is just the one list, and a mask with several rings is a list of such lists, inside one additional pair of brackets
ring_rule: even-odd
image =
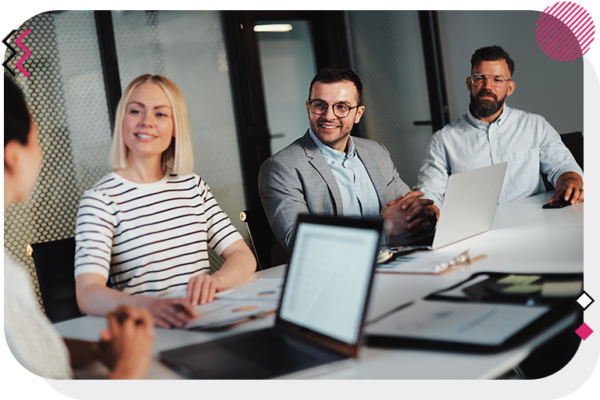
[(382, 223), (301, 215), (275, 326), (160, 353), (195, 379), (263, 379), (356, 358)]

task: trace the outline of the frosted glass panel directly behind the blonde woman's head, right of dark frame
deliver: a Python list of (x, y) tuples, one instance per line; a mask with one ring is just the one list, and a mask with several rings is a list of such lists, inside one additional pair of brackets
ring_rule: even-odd
[[(121, 88), (161, 74), (183, 91), (190, 109), (194, 172), (247, 237), (246, 209), (229, 67), (218, 11), (113, 11)], [(218, 262), (211, 256), (211, 265)]]

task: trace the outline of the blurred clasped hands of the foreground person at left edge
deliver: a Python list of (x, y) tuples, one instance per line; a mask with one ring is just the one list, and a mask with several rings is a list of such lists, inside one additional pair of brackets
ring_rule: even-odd
[(152, 359), (154, 321), (143, 308), (119, 306), (106, 316), (108, 328), (100, 333), (98, 357), (115, 379), (144, 378)]

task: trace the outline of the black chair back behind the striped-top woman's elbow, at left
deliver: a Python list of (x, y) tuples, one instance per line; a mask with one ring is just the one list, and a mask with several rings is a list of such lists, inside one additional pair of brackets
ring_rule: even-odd
[(75, 294), (75, 238), (30, 244), (46, 316), (53, 323), (83, 314)]

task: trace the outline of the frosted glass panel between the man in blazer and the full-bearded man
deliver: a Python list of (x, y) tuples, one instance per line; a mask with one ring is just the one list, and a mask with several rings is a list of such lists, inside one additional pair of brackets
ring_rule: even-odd
[(390, 151), (400, 177), (417, 183), (431, 139), (425, 59), (418, 11), (346, 11), (354, 72), (363, 83), (367, 138)]

